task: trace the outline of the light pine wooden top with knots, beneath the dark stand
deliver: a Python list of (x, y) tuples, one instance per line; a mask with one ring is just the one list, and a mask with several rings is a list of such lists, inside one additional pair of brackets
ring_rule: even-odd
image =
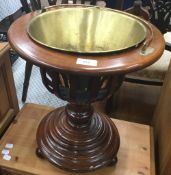
[[(36, 130), (40, 120), (53, 108), (27, 104), (17, 115), (0, 141), (0, 152), (7, 143), (14, 144), (10, 149), (11, 160), (3, 159), (0, 166), (15, 174), (73, 175), (39, 159), (35, 154)], [(113, 120), (121, 136), (116, 166), (106, 167), (84, 175), (151, 175), (150, 127), (147, 125)], [(81, 173), (76, 173), (79, 175)]]

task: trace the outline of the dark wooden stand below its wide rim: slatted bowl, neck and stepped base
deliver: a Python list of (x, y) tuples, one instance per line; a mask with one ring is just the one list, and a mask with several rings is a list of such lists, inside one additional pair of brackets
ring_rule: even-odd
[(49, 113), (37, 131), (37, 153), (76, 172), (92, 171), (117, 161), (120, 138), (109, 117), (91, 103), (117, 90), (122, 75), (85, 76), (41, 69), (44, 85), (69, 104)]

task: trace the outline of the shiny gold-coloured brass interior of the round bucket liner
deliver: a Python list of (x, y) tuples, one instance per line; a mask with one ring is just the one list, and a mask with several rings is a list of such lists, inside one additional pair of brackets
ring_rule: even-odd
[(137, 46), (146, 26), (133, 16), (99, 7), (67, 7), (34, 17), (29, 36), (50, 48), (77, 53), (107, 53)]

